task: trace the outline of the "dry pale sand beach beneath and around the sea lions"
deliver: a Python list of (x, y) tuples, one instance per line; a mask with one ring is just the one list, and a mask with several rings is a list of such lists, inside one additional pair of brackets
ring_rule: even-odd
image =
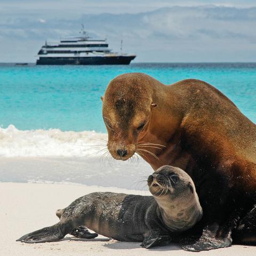
[[(1, 255), (196, 255), (182, 251), (177, 244), (146, 250), (140, 243), (66, 236), (63, 241), (42, 244), (15, 242), (20, 236), (58, 221), (55, 210), (67, 206), (75, 198), (93, 191), (114, 191), (146, 195), (146, 191), (35, 183), (0, 183), (0, 254)], [(198, 255), (256, 255), (256, 246), (233, 245), (229, 248), (200, 252)]]

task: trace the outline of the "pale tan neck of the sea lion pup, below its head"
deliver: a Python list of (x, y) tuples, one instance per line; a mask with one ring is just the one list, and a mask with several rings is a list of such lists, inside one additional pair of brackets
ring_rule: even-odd
[(203, 215), (198, 198), (192, 197), (189, 201), (178, 202), (166, 199), (156, 199), (158, 211), (165, 226), (171, 231), (185, 231), (193, 227)]

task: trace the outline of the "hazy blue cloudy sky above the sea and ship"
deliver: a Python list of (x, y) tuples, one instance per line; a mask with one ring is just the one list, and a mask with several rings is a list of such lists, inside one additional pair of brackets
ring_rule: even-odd
[(81, 23), (136, 62), (256, 61), (255, 0), (0, 0), (0, 62), (35, 62)]

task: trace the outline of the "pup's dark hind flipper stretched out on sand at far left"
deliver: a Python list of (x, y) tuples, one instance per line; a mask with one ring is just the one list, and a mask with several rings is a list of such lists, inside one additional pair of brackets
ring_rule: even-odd
[(45, 227), (34, 232), (28, 233), (17, 239), (23, 243), (45, 243), (59, 241), (65, 237), (66, 233), (64, 228), (58, 223), (51, 227)]

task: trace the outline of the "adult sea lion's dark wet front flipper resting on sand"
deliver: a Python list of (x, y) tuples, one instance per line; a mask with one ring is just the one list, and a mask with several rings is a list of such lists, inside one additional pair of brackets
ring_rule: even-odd
[(185, 251), (200, 252), (228, 247), (232, 243), (230, 233), (226, 236), (217, 236), (217, 230), (209, 227), (203, 230), (201, 236), (189, 236), (181, 239), (181, 248)]

